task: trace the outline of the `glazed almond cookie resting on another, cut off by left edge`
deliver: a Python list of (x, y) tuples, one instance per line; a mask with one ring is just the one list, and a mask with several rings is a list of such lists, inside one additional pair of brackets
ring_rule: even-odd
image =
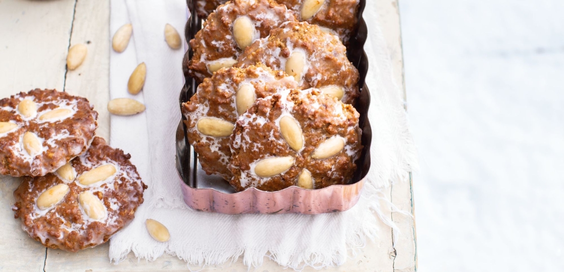
[(0, 174), (45, 176), (81, 155), (98, 112), (86, 98), (35, 89), (0, 100)]

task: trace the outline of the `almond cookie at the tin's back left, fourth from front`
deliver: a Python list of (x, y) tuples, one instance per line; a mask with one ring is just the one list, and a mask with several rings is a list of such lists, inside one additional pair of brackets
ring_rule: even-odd
[(294, 12), (273, 0), (233, 0), (219, 6), (190, 41), (193, 56), (184, 68), (201, 82), (219, 68), (231, 67), (250, 43), (286, 21), (296, 21)]

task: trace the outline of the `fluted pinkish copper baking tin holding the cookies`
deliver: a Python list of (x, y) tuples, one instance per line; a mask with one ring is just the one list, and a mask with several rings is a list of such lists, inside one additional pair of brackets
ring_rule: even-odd
[[(195, 3), (187, 0), (190, 11), (195, 10)], [(363, 130), (362, 144), (364, 149), (360, 159), (356, 161), (354, 178), (347, 185), (333, 185), (317, 190), (306, 190), (297, 186), (285, 188), (277, 192), (265, 192), (256, 188), (248, 188), (242, 192), (236, 192), (233, 187), (221, 177), (207, 176), (199, 168), (197, 154), (192, 146), (188, 144), (186, 128), (183, 124), (184, 116), (178, 124), (176, 134), (177, 155), (176, 166), (179, 175), (179, 183), (184, 195), (184, 202), (198, 211), (217, 212), (225, 214), (243, 213), (303, 213), (320, 214), (329, 212), (341, 212), (354, 206), (364, 187), (368, 169), (370, 168), (370, 144), (372, 141), (372, 129), (367, 119), (370, 94), (364, 83), (368, 72), (368, 59), (364, 52), (364, 42), (367, 38), (367, 27), (362, 17), (366, 0), (360, 0), (359, 24), (355, 35), (351, 38), (347, 49), (347, 57), (355, 65), (360, 73), (359, 86), (362, 86), (360, 98), (355, 106), (360, 113), (360, 128)], [(202, 20), (195, 12), (186, 23), (184, 36), (190, 41), (201, 29)], [(184, 55), (183, 63), (187, 63), (192, 56), (192, 50)], [(197, 89), (196, 81), (184, 71), (186, 85), (180, 91), (179, 103), (190, 100)]]

